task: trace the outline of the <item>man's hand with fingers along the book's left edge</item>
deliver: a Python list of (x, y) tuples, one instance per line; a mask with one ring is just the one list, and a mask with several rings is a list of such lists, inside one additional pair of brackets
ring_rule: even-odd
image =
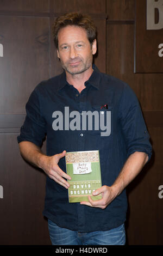
[(70, 187), (70, 184), (65, 179), (71, 180), (71, 177), (63, 172), (58, 166), (59, 160), (65, 156), (65, 153), (66, 151), (64, 150), (62, 153), (53, 156), (42, 156), (41, 168), (49, 176), (49, 178), (53, 179), (61, 186), (68, 188)]

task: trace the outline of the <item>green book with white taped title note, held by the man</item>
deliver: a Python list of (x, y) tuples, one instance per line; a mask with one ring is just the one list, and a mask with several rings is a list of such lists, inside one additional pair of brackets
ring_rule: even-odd
[[(65, 155), (66, 172), (71, 176), (67, 180), (69, 203), (89, 202), (88, 196), (102, 186), (99, 151), (67, 152)], [(99, 200), (102, 194), (91, 196), (92, 200)]]

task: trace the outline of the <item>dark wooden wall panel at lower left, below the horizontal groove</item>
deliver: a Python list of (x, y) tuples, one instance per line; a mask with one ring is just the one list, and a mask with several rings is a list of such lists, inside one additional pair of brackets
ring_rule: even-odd
[(0, 135), (1, 245), (50, 244), (42, 216), (46, 175), (22, 160), (17, 135)]

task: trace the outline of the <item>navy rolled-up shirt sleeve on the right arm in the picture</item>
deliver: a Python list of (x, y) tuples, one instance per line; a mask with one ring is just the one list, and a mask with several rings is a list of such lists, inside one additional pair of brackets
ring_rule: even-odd
[(148, 161), (152, 156), (152, 145), (142, 115), (139, 101), (133, 90), (126, 84), (121, 97), (119, 118), (126, 142), (127, 157), (136, 151), (145, 152)]

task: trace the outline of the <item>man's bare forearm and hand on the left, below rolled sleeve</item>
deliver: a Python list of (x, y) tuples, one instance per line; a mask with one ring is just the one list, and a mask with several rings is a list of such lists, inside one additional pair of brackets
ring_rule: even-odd
[(19, 143), (19, 147), (24, 159), (34, 166), (43, 169), (49, 178), (53, 179), (61, 186), (64, 186), (65, 188), (70, 186), (65, 179), (71, 180), (71, 177), (63, 172), (58, 166), (61, 157), (65, 156), (65, 150), (60, 154), (46, 156), (42, 153), (41, 149), (32, 142), (22, 141)]

